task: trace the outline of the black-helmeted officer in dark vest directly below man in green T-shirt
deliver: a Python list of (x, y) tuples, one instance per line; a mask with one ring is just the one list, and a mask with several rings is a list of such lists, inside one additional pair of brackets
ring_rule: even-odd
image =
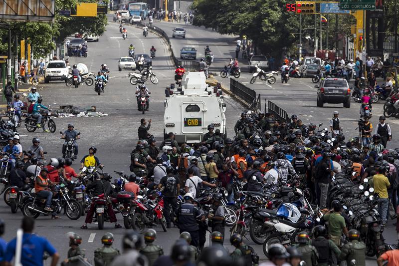
[(326, 228), (324, 226), (316, 226), (313, 228), (312, 245), (317, 249), (319, 254), (318, 264), (319, 266), (329, 266), (332, 263), (333, 257), (332, 252), (337, 257), (340, 256), (341, 251), (331, 240), (325, 238)]

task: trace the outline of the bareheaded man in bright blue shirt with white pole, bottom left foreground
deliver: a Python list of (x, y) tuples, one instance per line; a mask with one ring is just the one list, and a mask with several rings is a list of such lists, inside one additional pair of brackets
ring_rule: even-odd
[[(22, 219), (22, 251), (21, 264), (23, 266), (43, 266), (43, 254), (47, 252), (51, 257), (51, 266), (56, 266), (59, 255), (54, 247), (45, 238), (33, 234), (34, 220), (30, 217)], [(5, 266), (11, 266), (12, 258), (15, 256), (16, 238), (11, 240), (5, 251)]]

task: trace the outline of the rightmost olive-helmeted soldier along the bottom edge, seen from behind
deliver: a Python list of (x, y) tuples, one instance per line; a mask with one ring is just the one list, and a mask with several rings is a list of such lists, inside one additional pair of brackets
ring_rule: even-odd
[(366, 245), (359, 241), (359, 231), (351, 229), (348, 235), (350, 242), (342, 247), (340, 259), (345, 260), (347, 265), (351, 265), (351, 261), (356, 260), (356, 266), (366, 266)]

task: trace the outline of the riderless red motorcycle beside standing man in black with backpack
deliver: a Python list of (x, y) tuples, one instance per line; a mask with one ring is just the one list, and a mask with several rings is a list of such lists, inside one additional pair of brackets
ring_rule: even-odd
[(137, 196), (138, 200), (136, 201), (137, 206), (132, 218), (132, 228), (140, 234), (146, 230), (146, 227), (158, 224), (161, 224), (164, 232), (167, 232), (163, 213), (164, 200), (156, 195), (150, 195), (148, 200), (145, 200), (143, 196)]

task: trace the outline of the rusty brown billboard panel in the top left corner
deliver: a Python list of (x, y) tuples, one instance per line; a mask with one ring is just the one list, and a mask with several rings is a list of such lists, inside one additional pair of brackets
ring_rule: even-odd
[(0, 19), (52, 22), (55, 0), (0, 0)]

